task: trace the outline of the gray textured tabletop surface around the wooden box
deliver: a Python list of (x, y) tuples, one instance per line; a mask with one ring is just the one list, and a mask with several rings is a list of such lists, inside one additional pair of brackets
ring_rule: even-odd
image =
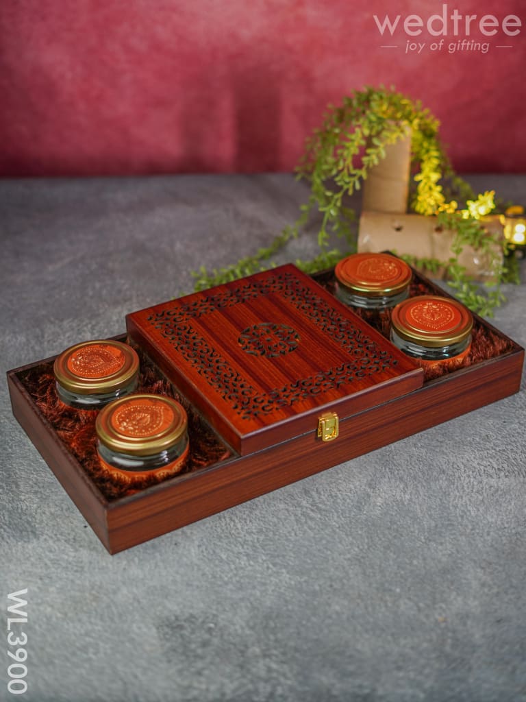
[[(526, 178), (473, 182), (525, 200)], [(304, 197), (286, 175), (0, 183), (2, 370), (120, 333)], [(525, 345), (526, 286), (508, 295), (495, 324)], [(1, 588), (29, 588), (20, 699), (526, 700), (524, 389), (114, 557), (0, 392)]]

